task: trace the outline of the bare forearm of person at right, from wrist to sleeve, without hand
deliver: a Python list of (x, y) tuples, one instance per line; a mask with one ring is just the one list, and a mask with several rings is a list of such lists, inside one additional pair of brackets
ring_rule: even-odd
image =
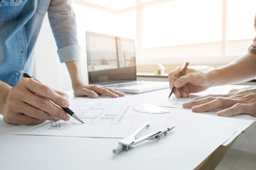
[(238, 60), (207, 73), (210, 86), (244, 82), (256, 77), (256, 55), (248, 53)]

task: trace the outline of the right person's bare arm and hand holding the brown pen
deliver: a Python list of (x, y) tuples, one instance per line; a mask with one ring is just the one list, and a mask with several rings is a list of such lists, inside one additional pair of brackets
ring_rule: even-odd
[(201, 72), (187, 69), (186, 75), (176, 79), (180, 68), (169, 74), (170, 88), (176, 86), (176, 97), (189, 97), (191, 93), (197, 93), (208, 89), (210, 86), (220, 86), (251, 80), (256, 77), (256, 55), (248, 53), (238, 60), (218, 67), (209, 72)]

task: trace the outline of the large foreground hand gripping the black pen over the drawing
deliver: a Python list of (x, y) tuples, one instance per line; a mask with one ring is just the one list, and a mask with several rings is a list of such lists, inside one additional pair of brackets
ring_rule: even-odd
[[(70, 116), (62, 108), (68, 108), (67, 96), (53, 91), (48, 86), (33, 79), (23, 78), (6, 91), (2, 115), (6, 123), (37, 125), (46, 120), (69, 120)], [(50, 101), (57, 104), (55, 106)]]

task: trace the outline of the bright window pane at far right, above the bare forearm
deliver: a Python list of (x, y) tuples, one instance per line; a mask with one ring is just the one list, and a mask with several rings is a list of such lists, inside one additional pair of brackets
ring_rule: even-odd
[(256, 1), (231, 0), (228, 10), (227, 55), (243, 55), (255, 36)]

